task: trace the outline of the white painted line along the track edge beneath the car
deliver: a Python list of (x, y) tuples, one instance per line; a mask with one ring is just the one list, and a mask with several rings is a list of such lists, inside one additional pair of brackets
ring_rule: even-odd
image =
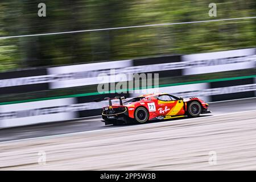
[[(210, 115), (209, 117), (219, 117), (221, 115), (230, 115), (230, 114), (238, 114), (238, 113), (248, 113), (248, 112), (253, 112), (256, 110), (249, 110), (249, 111), (240, 111), (240, 112), (234, 112), (234, 113), (226, 113), (226, 114), (217, 114), (217, 115)], [(209, 118), (208, 117), (208, 118)], [(198, 119), (203, 119), (205, 117), (200, 117), (200, 118), (189, 118), (190, 120), (198, 120)], [(183, 121), (186, 121), (187, 119), (184, 119)], [(175, 123), (175, 122), (182, 122), (180, 120), (176, 120), (176, 121), (165, 121), (165, 122), (155, 122), (155, 123), (148, 123), (146, 125), (167, 125), (169, 123)], [(45, 137), (35, 137), (35, 138), (26, 138), (26, 139), (18, 139), (18, 140), (8, 140), (5, 142), (0, 142), (0, 144), (2, 143), (9, 143), (9, 142), (20, 142), (20, 141), (26, 141), (26, 140), (32, 140), (32, 139), (50, 139), (50, 138), (56, 138), (56, 137), (68, 137), (68, 136), (73, 136), (73, 135), (80, 135), (80, 134), (86, 134), (86, 133), (95, 133), (95, 132), (101, 132), (101, 131), (108, 131), (108, 130), (125, 130), (125, 129), (129, 129), (132, 127), (143, 127), (145, 125), (132, 125), (132, 126), (125, 126), (125, 127), (115, 127), (115, 128), (111, 128), (111, 129), (102, 129), (102, 130), (91, 130), (91, 131), (81, 131), (81, 132), (76, 132), (76, 133), (67, 133), (67, 134), (59, 134), (59, 135), (50, 135), (50, 136), (45, 136)]]

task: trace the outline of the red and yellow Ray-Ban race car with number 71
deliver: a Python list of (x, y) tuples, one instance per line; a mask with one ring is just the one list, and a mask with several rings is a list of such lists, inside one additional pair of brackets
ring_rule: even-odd
[[(119, 104), (112, 100), (119, 99)], [(198, 117), (210, 113), (208, 104), (197, 97), (183, 99), (167, 93), (145, 94), (123, 101), (124, 97), (105, 98), (109, 106), (102, 108), (102, 118), (105, 125), (121, 123), (146, 123), (155, 119), (170, 119), (177, 117)]]

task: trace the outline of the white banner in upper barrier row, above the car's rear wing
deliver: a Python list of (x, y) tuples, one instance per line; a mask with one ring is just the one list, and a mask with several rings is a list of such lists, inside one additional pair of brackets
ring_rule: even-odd
[[(54, 77), (50, 89), (127, 81), (118, 76), (118, 69), (131, 67), (132, 64), (132, 60), (123, 60), (47, 68), (48, 75)], [(110, 74), (110, 69), (115, 69), (115, 75)], [(99, 76), (100, 74), (107, 76)]]

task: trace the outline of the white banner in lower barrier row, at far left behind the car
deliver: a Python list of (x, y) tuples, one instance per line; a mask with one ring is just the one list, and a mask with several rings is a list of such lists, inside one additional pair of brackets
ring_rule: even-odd
[(23, 126), (77, 118), (75, 110), (67, 110), (67, 106), (75, 104), (75, 102), (76, 98), (61, 98), (0, 105), (0, 127)]

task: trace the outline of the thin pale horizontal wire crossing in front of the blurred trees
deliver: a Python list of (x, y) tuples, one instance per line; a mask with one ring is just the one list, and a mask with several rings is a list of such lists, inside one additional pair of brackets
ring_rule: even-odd
[(47, 34), (30, 34), (30, 35), (2, 36), (2, 37), (0, 37), (0, 39), (23, 38), (23, 37), (30, 37), (30, 36), (59, 35), (59, 34), (75, 34), (75, 33), (80, 33), (80, 32), (94, 32), (94, 31), (105, 31), (105, 30), (119, 30), (119, 29), (126, 29), (126, 28), (159, 27), (159, 26), (170, 26), (170, 25), (175, 25), (175, 24), (191, 24), (191, 23), (220, 22), (220, 21), (241, 20), (241, 19), (253, 19), (253, 18), (256, 18), (256, 16), (242, 17), (242, 18), (227, 18), (227, 19), (202, 20), (202, 21), (194, 21), (194, 22), (146, 24), (146, 25), (141, 25), (141, 26), (100, 28), (100, 29), (92, 29), (92, 30), (78, 30), (78, 31), (68, 31), (68, 32), (54, 32), (54, 33), (47, 33)]

